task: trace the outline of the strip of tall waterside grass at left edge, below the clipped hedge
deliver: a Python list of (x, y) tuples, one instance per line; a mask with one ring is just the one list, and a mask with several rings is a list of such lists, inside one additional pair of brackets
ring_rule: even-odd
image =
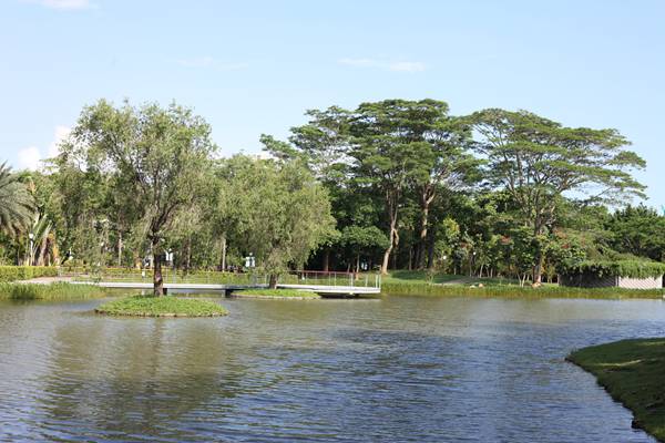
[(92, 285), (0, 284), (0, 300), (70, 300), (99, 298), (105, 295), (103, 288)]

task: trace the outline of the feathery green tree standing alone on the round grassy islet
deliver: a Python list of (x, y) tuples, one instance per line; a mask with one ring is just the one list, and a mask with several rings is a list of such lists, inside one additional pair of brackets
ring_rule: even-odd
[(155, 296), (164, 293), (164, 239), (206, 184), (216, 152), (209, 133), (202, 117), (176, 104), (115, 107), (101, 100), (83, 110), (61, 150), (62, 162), (106, 181), (126, 223), (150, 241)]

